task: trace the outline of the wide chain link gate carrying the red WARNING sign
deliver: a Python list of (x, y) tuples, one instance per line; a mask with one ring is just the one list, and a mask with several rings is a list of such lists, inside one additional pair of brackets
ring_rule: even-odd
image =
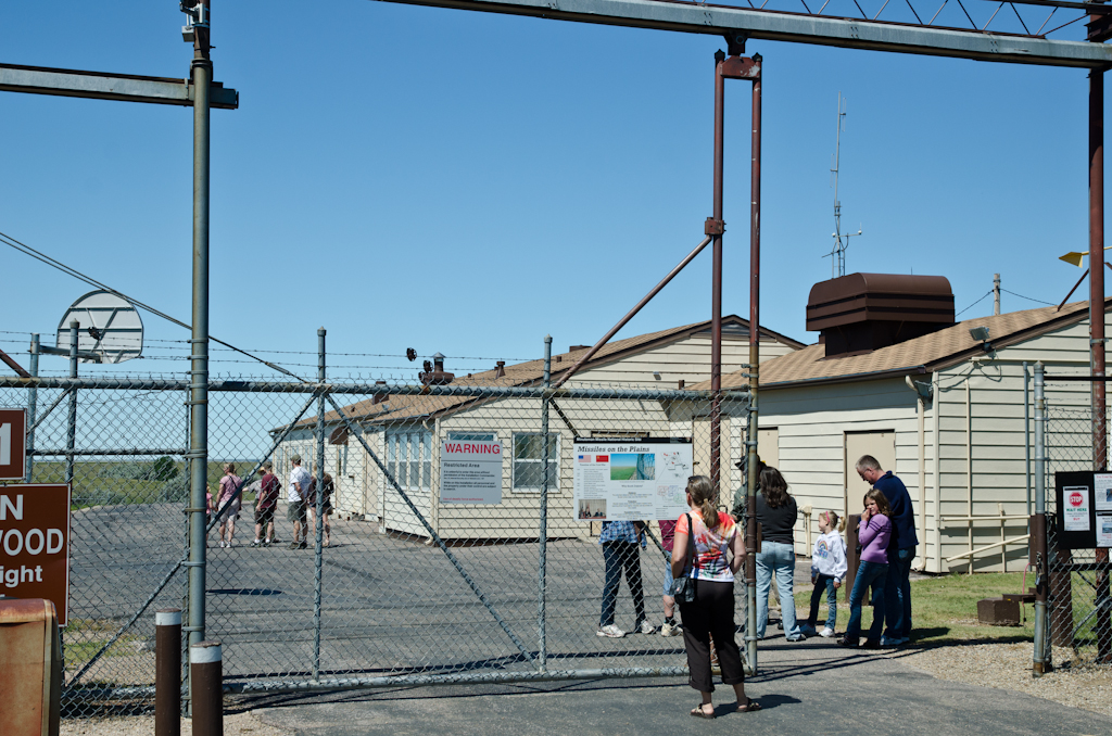
[[(63, 706), (82, 715), (146, 704), (153, 698), (155, 611), (182, 608), (188, 620), (188, 385), (37, 385), (0, 379), (0, 406), (37, 406), (30, 480), (72, 479)], [(209, 517), (205, 635), (224, 644), (226, 686), (686, 676), (679, 637), (596, 635), (600, 521), (573, 508), (575, 440), (689, 439), (694, 473), (709, 475), (714, 404), (705, 391), (613, 384), (554, 392), (509, 379), (212, 381), (214, 506), (227, 465), (242, 480), (238, 514), (229, 507)], [(723, 392), (718, 406), (719, 505), (728, 509), (743, 493), (734, 464), (745, 448), (747, 395)], [(506, 448), (500, 503), (440, 501), (446, 440)], [(322, 525), (310, 507), (304, 545), (294, 544), (287, 516), (295, 455), (318, 487), (334, 488), (328, 503), (321, 498), (322, 510), (330, 507)], [(282, 486), (274, 538), (265, 526), (256, 530), (251, 485), (267, 459)], [(658, 630), (667, 556), (657, 524), (649, 520), (647, 530), (642, 590)], [(744, 583), (737, 586), (741, 624)], [(624, 580), (615, 623), (632, 630), (637, 619)]]

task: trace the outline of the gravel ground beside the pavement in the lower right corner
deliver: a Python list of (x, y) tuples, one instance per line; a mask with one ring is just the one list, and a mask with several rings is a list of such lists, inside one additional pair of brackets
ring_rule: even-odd
[(890, 655), (940, 679), (1025, 693), (1062, 705), (1112, 716), (1112, 668), (1071, 666), (1054, 660), (1055, 669), (1031, 676), (1031, 643), (957, 644), (906, 649)]

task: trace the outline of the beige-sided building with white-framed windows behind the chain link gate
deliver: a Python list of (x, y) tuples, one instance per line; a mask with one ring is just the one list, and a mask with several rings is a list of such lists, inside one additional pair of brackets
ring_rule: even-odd
[[(723, 318), (723, 368), (736, 369), (748, 360), (748, 322)], [(773, 358), (803, 345), (771, 330), (761, 331), (762, 356)], [(573, 346), (552, 358), (553, 380), (585, 355), (587, 346)], [(565, 387), (623, 387), (674, 390), (709, 378), (711, 324), (686, 325), (616, 340), (598, 351)], [(450, 369), (450, 366), (446, 367)], [(490, 387), (540, 386), (542, 360), (498, 366), (475, 375), (456, 376), (453, 385)], [(364, 438), (397, 478), (407, 496), (438, 535), (461, 538), (529, 538), (537, 535), (543, 442), (540, 401), (522, 398), (389, 396), (345, 407)], [(695, 435), (696, 461), (707, 463), (709, 405), (687, 406), (684, 421), (673, 420), (676, 407), (668, 401), (631, 399), (559, 400), (550, 420), (548, 529), (554, 537), (584, 536), (590, 524), (572, 518), (573, 440), (578, 437), (691, 437)], [(329, 436), (326, 467), (337, 479), (336, 508), (340, 514), (377, 523), (384, 531), (427, 536), (427, 530), (364, 450), (344, 437), (337, 416), (325, 416)], [(286, 468), (294, 452), (316, 455), (307, 418), (282, 442), (276, 467)], [(498, 505), (440, 504), (439, 452), (443, 440), (499, 440), (504, 452), (503, 494)], [(735, 454), (736, 454), (736, 447)], [(727, 467), (732, 456), (723, 458)], [(701, 459), (702, 458), (702, 459)], [(699, 467), (696, 466), (696, 471)], [(597, 526), (597, 524), (595, 525)]]

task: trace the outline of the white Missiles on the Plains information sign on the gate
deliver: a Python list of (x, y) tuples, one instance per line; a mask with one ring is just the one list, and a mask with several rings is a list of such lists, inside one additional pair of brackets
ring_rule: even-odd
[(687, 510), (689, 439), (576, 439), (573, 465), (578, 521), (675, 519)]

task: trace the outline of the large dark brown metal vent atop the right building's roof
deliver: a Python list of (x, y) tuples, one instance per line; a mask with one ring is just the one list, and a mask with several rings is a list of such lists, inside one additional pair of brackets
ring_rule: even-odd
[(807, 329), (826, 357), (861, 355), (954, 324), (954, 295), (943, 276), (851, 273), (811, 287)]

